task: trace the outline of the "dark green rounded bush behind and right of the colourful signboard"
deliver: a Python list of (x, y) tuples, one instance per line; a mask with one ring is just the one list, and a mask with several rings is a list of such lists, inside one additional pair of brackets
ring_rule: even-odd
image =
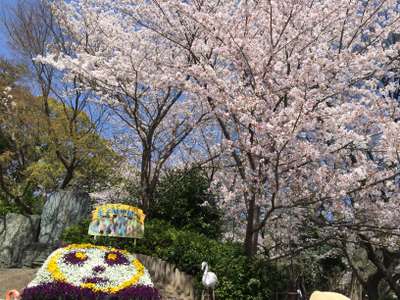
[(203, 233), (210, 238), (221, 234), (221, 211), (209, 182), (199, 169), (170, 171), (157, 186), (149, 215), (174, 227)]

